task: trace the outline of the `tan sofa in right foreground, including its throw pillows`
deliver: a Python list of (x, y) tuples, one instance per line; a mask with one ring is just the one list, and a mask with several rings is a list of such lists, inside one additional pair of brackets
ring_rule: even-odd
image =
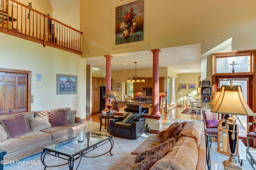
[(180, 129), (171, 126), (159, 134), (150, 135), (113, 170), (206, 170), (202, 124), (188, 121), (184, 125), (177, 124)]

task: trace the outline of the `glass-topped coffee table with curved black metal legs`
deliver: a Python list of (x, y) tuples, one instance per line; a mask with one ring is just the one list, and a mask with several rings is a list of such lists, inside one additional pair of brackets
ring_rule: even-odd
[[(43, 152), (41, 154), (41, 161), (44, 165), (44, 169), (46, 169), (47, 167), (56, 167), (68, 164), (69, 169), (72, 170), (74, 168), (74, 161), (77, 159), (80, 159), (81, 161), (82, 157), (90, 158), (107, 154), (108, 152), (102, 153), (97, 156), (85, 156), (85, 154), (88, 154), (92, 150), (102, 146), (103, 144), (106, 144), (107, 142), (110, 142), (111, 144), (110, 150), (108, 150), (108, 152), (111, 156), (113, 156), (113, 154), (111, 153), (111, 150), (114, 146), (112, 136), (87, 132), (84, 142), (78, 142), (76, 140), (76, 137), (74, 137), (42, 148)], [(68, 162), (65, 164), (48, 166), (44, 161), (46, 155), (52, 155), (58, 158), (62, 158), (64, 160), (67, 160)], [(80, 161), (77, 165), (77, 168), (80, 164)]]

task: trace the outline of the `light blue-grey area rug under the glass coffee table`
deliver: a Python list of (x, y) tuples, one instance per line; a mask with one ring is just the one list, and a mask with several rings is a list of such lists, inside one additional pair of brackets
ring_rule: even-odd
[[(94, 122), (86, 122), (88, 123), (88, 131), (96, 132), (99, 134), (108, 134), (107, 129), (102, 128), (100, 130), (100, 123)], [(114, 167), (119, 164), (122, 160), (124, 160), (127, 156), (131, 154), (131, 152), (136, 149), (148, 136), (150, 133), (144, 133), (138, 139), (124, 139), (113, 137), (114, 146), (112, 148), (111, 156), (109, 153), (95, 157), (95, 158), (82, 158), (78, 170), (110, 170), (114, 169)], [(94, 156), (102, 154), (108, 151), (110, 148), (110, 142), (96, 148), (94, 151), (88, 153), (87, 156)], [(41, 153), (35, 154), (23, 160), (14, 162), (14, 164), (4, 166), (4, 170), (42, 170), (44, 169), (44, 165), (41, 162)], [(46, 155), (45, 162), (50, 164), (63, 164), (66, 163), (67, 160), (62, 160), (61, 158), (56, 158), (54, 156)], [(79, 160), (74, 162), (74, 169), (78, 165)], [(48, 168), (47, 168), (48, 169)], [(68, 165), (62, 165), (58, 167), (49, 168), (49, 170), (68, 170)]]

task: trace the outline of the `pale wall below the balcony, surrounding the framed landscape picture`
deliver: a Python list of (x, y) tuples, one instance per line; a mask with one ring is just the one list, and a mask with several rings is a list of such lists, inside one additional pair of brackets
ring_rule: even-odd
[[(31, 110), (70, 107), (86, 118), (86, 60), (80, 55), (0, 33), (0, 67), (32, 71)], [(42, 74), (42, 82), (36, 81)], [(78, 76), (78, 94), (56, 95), (56, 74)], [(80, 97), (80, 99), (78, 99)]]

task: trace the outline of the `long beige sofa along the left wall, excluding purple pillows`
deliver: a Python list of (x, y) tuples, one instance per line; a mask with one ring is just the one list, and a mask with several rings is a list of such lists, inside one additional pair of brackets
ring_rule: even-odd
[[(62, 117), (61, 119), (66, 121), (66, 125), (53, 127), (51, 123), (54, 121), (55, 118), (49, 118), (48, 111), (55, 113), (55, 115), (57, 115), (57, 113), (64, 112), (65, 118)], [(24, 119), (24, 117), (21, 115), (24, 115), (25, 117), (26, 125), (29, 128), (29, 132), (15, 137), (10, 137), (10, 135), (13, 135), (13, 132), (11, 132), (9, 128), (10, 134), (8, 134), (8, 129), (6, 129), (6, 127), (10, 126), (10, 123), (13, 123), (12, 126), (16, 127), (16, 131), (18, 128), (19, 131), (22, 126), (24, 127), (24, 125), (21, 125), (24, 123), (20, 123), (19, 120), (16, 121), (17, 123), (14, 123), (10, 120), (18, 119), (18, 117)], [(3, 122), (5, 123), (4, 125)], [(6, 127), (4, 127), (5, 125)], [(87, 123), (83, 123), (82, 119), (76, 117), (76, 111), (71, 111), (70, 108), (59, 108), (35, 112), (29, 111), (26, 113), (20, 113), (15, 115), (1, 116), (0, 149), (6, 151), (6, 154), (4, 155), (4, 160), (20, 160), (33, 154), (42, 152), (43, 147), (76, 136), (76, 130), (78, 127), (83, 127), (87, 129)], [(27, 127), (25, 127), (25, 129), (27, 129)]]

